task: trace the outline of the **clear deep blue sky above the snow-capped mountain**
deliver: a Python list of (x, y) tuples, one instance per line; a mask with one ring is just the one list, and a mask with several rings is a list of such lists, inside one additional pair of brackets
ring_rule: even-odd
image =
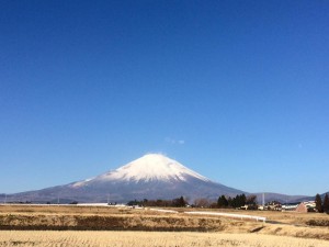
[(248, 192), (329, 191), (328, 1), (0, 2), (0, 192), (162, 153)]

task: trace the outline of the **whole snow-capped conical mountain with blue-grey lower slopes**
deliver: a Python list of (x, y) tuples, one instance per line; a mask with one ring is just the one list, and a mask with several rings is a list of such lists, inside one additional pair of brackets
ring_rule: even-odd
[(236, 195), (241, 190), (214, 182), (160, 154), (149, 154), (116, 170), (98, 177), (37, 191), (9, 197), (20, 201), (39, 202), (127, 202), (143, 199), (173, 199), (185, 197), (217, 199)]

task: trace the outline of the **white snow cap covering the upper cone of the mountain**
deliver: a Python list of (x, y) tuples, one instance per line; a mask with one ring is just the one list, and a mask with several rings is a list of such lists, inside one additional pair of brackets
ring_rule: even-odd
[(161, 154), (148, 154), (114, 171), (101, 175), (95, 180), (151, 181), (151, 180), (181, 180), (194, 177), (203, 181), (209, 179), (190, 170), (180, 162)]

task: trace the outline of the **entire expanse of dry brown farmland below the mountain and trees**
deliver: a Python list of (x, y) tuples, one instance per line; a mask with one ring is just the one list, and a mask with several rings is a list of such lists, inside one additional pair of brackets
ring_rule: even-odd
[(262, 223), (179, 211), (0, 205), (0, 246), (329, 246), (327, 214), (211, 210)]

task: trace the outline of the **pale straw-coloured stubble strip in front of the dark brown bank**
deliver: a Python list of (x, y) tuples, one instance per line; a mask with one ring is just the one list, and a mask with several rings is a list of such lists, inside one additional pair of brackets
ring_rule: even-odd
[(0, 232), (0, 246), (43, 247), (328, 247), (328, 242), (251, 234), (155, 232)]

